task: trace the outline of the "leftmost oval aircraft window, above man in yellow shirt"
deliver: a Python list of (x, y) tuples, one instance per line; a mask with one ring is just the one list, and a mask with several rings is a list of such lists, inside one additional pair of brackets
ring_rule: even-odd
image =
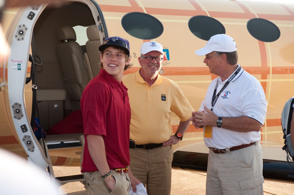
[(162, 23), (147, 13), (131, 12), (121, 18), (123, 29), (139, 39), (155, 39), (163, 33)]

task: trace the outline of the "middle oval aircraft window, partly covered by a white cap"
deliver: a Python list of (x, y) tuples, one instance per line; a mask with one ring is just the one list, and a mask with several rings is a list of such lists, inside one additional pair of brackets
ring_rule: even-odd
[(193, 16), (188, 22), (189, 29), (196, 37), (208, 41), (213, 35), (225, 34), (225, 27), (209, 16)]

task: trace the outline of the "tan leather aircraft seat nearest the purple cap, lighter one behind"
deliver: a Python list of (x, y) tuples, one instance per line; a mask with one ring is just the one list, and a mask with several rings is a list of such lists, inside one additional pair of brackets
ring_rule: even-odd
[[(86, 50), (87, 52), (84, 53), (86, 66), (91, 72), (89, 73), (89, 77), (95, 77), (99, 74), (100, 68), (100, 51), (99, 46), (101, 45), (100, 37), (98, 33), (98, 28), (96, 24), (93, 24), (87, 28), (87, 37), (88, 41), (86, 42)], [(88, 59), (88, 60), (87, 60)], [(89, 64), (88, 64), (89, 63)], [(92, 73), (92, 75), (91, 75)]]

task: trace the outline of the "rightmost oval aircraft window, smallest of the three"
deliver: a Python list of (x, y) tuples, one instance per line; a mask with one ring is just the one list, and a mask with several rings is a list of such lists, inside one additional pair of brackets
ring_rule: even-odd
[(247, 22), (247, 30), (254, 38), (263, 42), (273, 42), (280, 38), (278, 26), (263, 18), (253, 18)]

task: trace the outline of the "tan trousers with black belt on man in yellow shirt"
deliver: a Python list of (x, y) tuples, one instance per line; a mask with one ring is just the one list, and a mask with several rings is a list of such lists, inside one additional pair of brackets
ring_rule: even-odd
[(146, 184), (148, 195), (171, 194), (171, 162), (173, 148), (161, 146), (152, 150), (130, 148), (133, 175)]

